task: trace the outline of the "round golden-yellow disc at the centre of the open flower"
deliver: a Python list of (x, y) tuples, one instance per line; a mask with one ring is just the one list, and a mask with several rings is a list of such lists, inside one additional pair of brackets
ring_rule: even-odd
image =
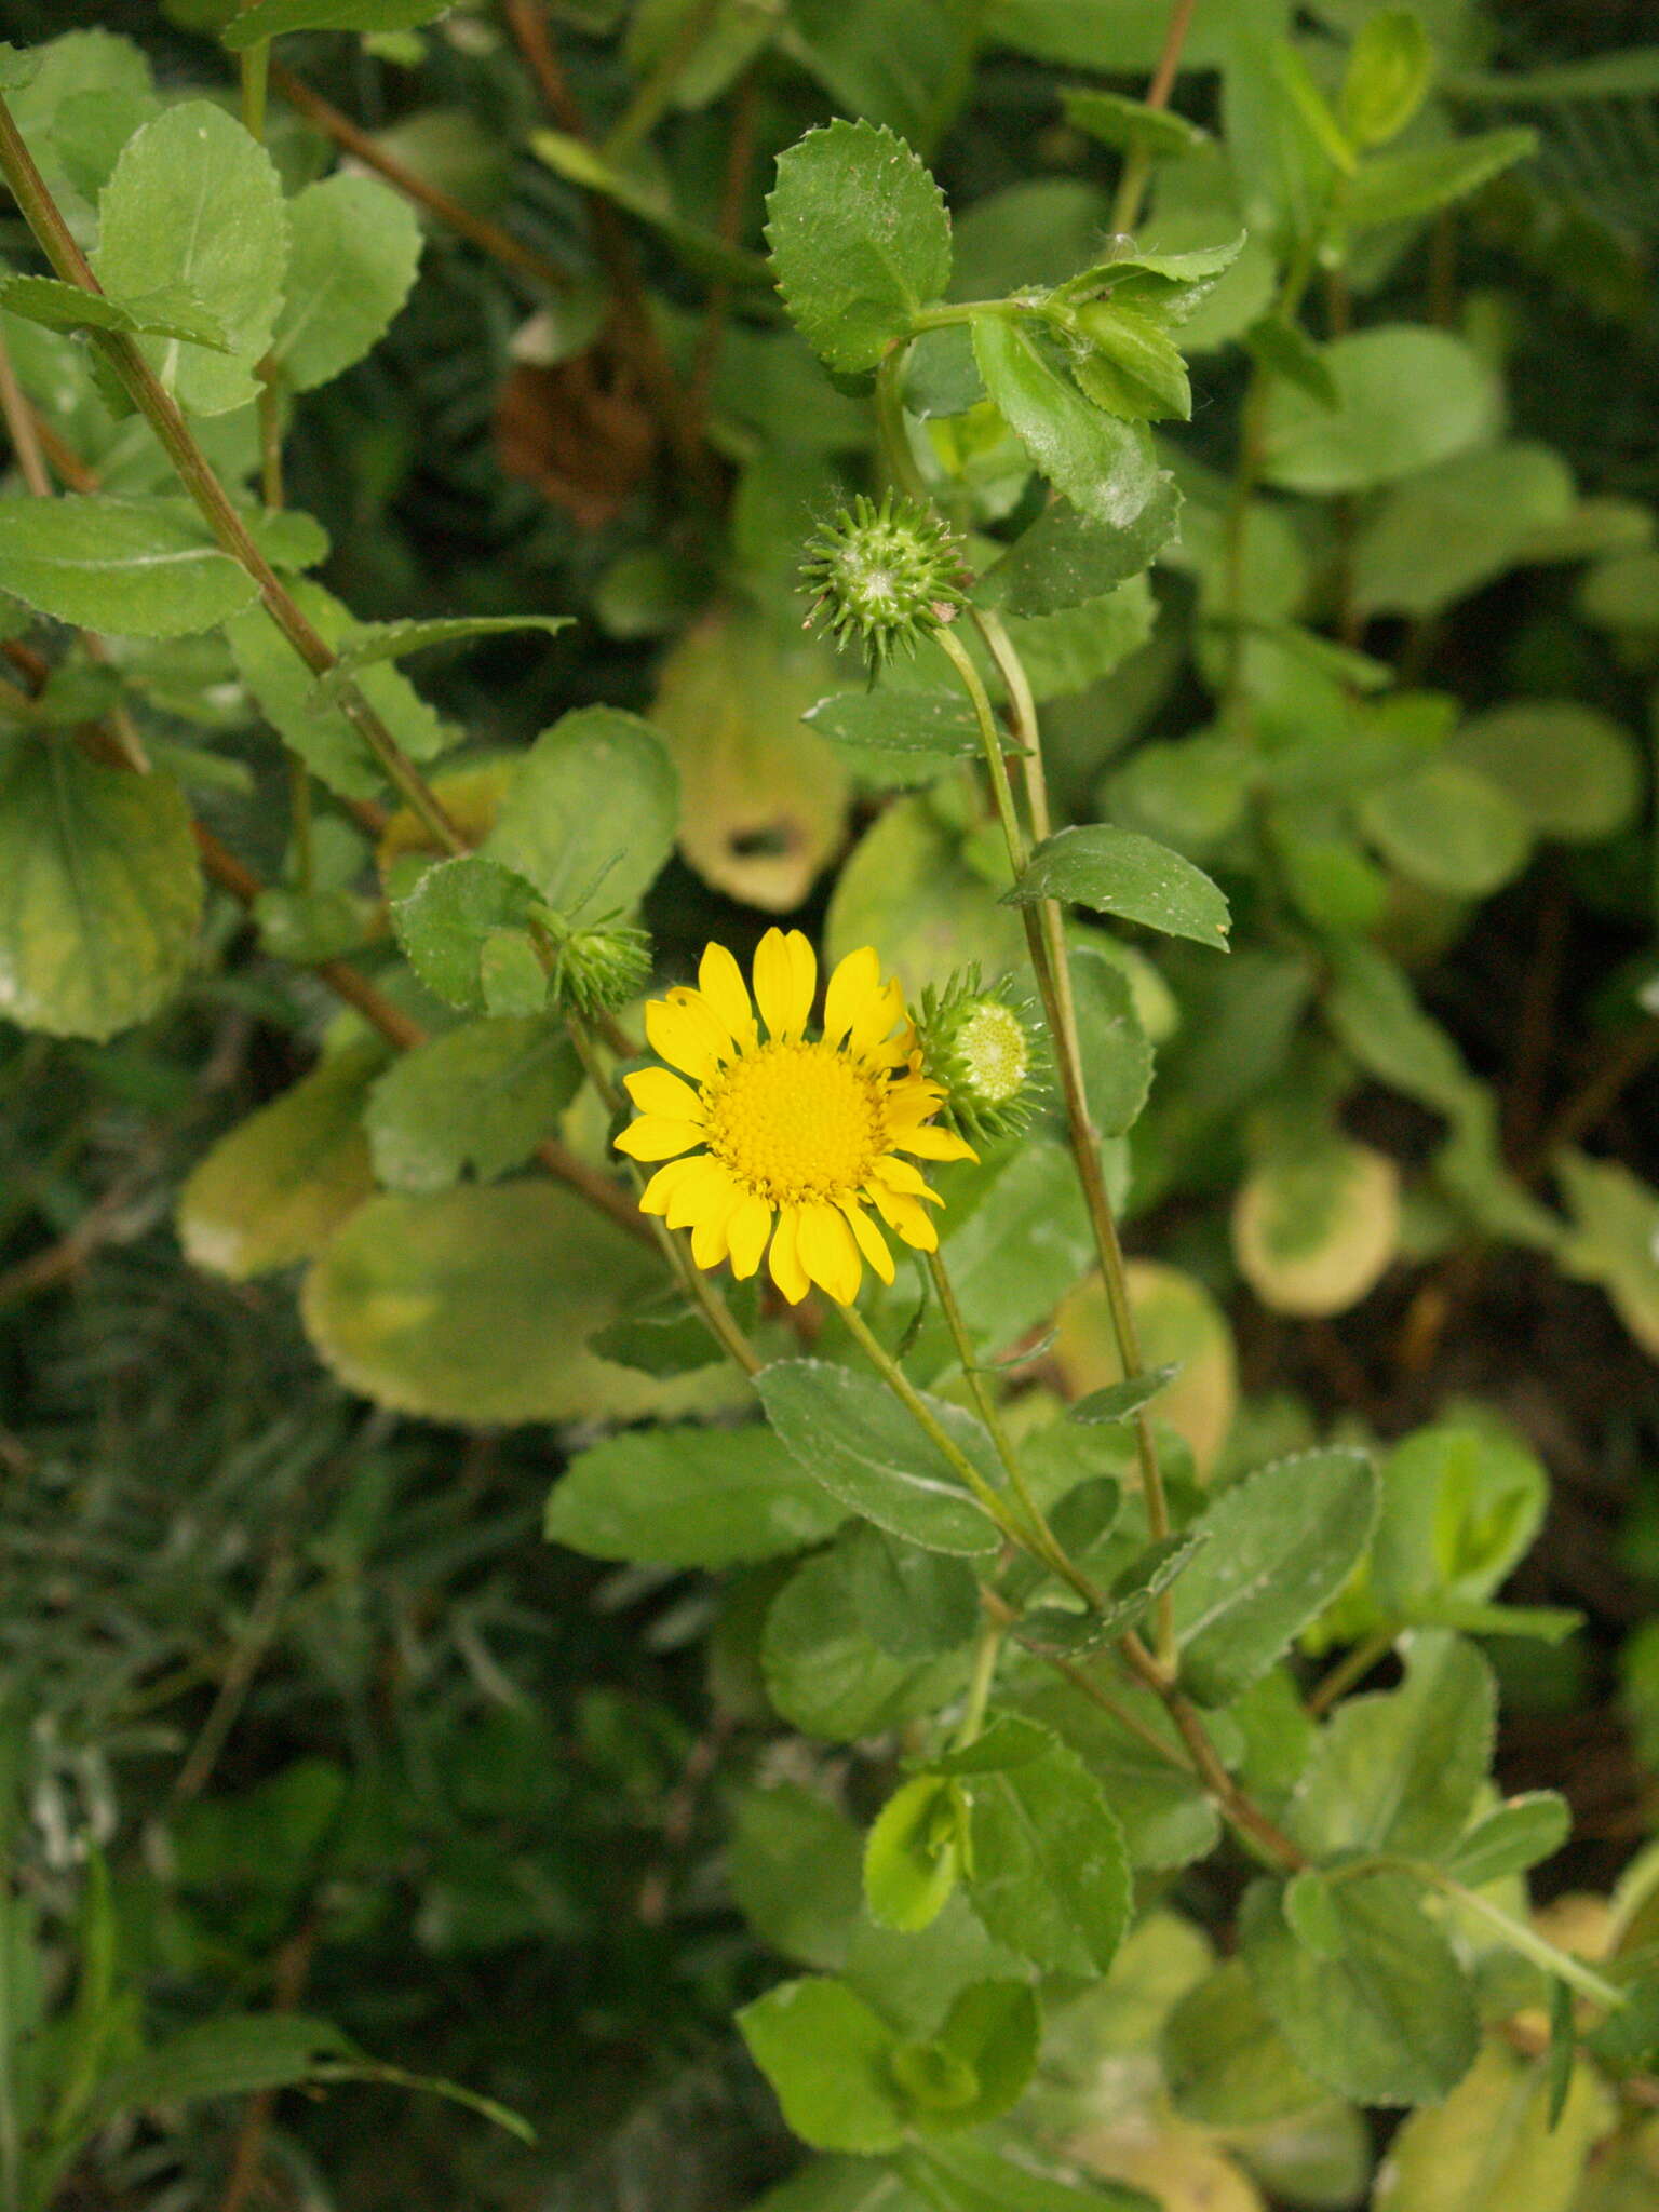
[(772, 1206), (852, 1197), (887, 1144), (885, 1084), (832, 1044), (763, 1044), (703, 1086), (708, 1148)]

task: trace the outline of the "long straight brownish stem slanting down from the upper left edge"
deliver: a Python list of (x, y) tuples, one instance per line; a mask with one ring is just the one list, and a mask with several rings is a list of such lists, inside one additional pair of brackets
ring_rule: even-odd
[[(11, 186), (11, 195), (35, 237), (35, 243), (44, 252), (46, 261), (51, 261), (58, 276), (64, 283), (80, 285), (82, 292), (97, 292), (97, 279), (58, 212), (58, 204), (46, 190), (2, 95), (0, 173)], [(184, 482), (184, 489), (195, 500), (219, 546), (252, 577), (265, 613), (312, 675), (327, 675), (330, 668), (334, 668), (334, 653), (316, 635), (312, 624), (294, 604), (288, 586), (248, 535), (246, 522), (232, 507), (219, 478), (212, 473), (212, 467), (190, 434), (188, 422), (179, 414), (173, 394), (159, 383), (148, 361), (131, 338), (113, 330), (100, 330), (93, 332), (93, 343), (100, 347), (111, 369), (122, 380), (128, 398), (155, 431), (161, 449)], [(398, 745), (396, 737), (387, 730), (363, 692), (354, 684), (343, 686), (338, 706), (380, 763), (387, 781), (407, 801), (411, 812), (438, 841), (438, 845), (451, 854), (467, 852), (469, 847), (460, 830), (456, 830), (449, 821), (420, 770), (405, 754), (403, 745)]]

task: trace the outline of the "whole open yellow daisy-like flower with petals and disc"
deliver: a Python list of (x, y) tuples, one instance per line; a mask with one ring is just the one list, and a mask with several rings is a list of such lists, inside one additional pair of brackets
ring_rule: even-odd
[(750, 1276), (770, 1239), (772, 1281), (790, 1305), (812, 1283), (852, 1305), (863, 1261), (883, 1283), (894, 1279), (894, 1254), (867, 1208), (905, 1243), (933, 1252), (927, 1208), (942, 1199), (911, 1159), (975, 1152), (929, 1126), (945, 1093), (918, 1073), (905, 998), (898, 982), (880, 980), (876, 951), (865, 945), (836, 964), (823, 1035), (807, 1037), (816, 989), (818, 962), (799, 929), (761, 938), (754, 1000), (732, 953), (710, 945), (695, 991), (681, 984), (646, 1006), (653, 1051), (690, 1082), (668, 1068), (628, 1075), (639, 1117), (617, 1150), (668, 1161), (639, 1206), (692, 1232), (699, 1267), (730, 1259), (732, 1274)]

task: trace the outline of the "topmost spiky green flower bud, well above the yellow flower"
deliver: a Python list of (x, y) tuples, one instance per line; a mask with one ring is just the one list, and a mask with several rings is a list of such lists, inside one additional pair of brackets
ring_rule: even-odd
[(803, 588), (814, 593), (807, 626), (818, 622), (838, 646), (856, 641), (872, 668), (896, 650), (914, 653), (967, 604), (962, 549), (949, 526), (914, 500), (863, 493), (807, 542)]

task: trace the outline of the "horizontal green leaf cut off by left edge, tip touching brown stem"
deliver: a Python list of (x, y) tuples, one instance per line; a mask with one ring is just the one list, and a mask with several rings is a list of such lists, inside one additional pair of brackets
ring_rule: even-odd
[(210, 630), (257, 597), (254, 580), (181, 500), (108, 493), (2, 500), (0, 591), (115, 637)]

